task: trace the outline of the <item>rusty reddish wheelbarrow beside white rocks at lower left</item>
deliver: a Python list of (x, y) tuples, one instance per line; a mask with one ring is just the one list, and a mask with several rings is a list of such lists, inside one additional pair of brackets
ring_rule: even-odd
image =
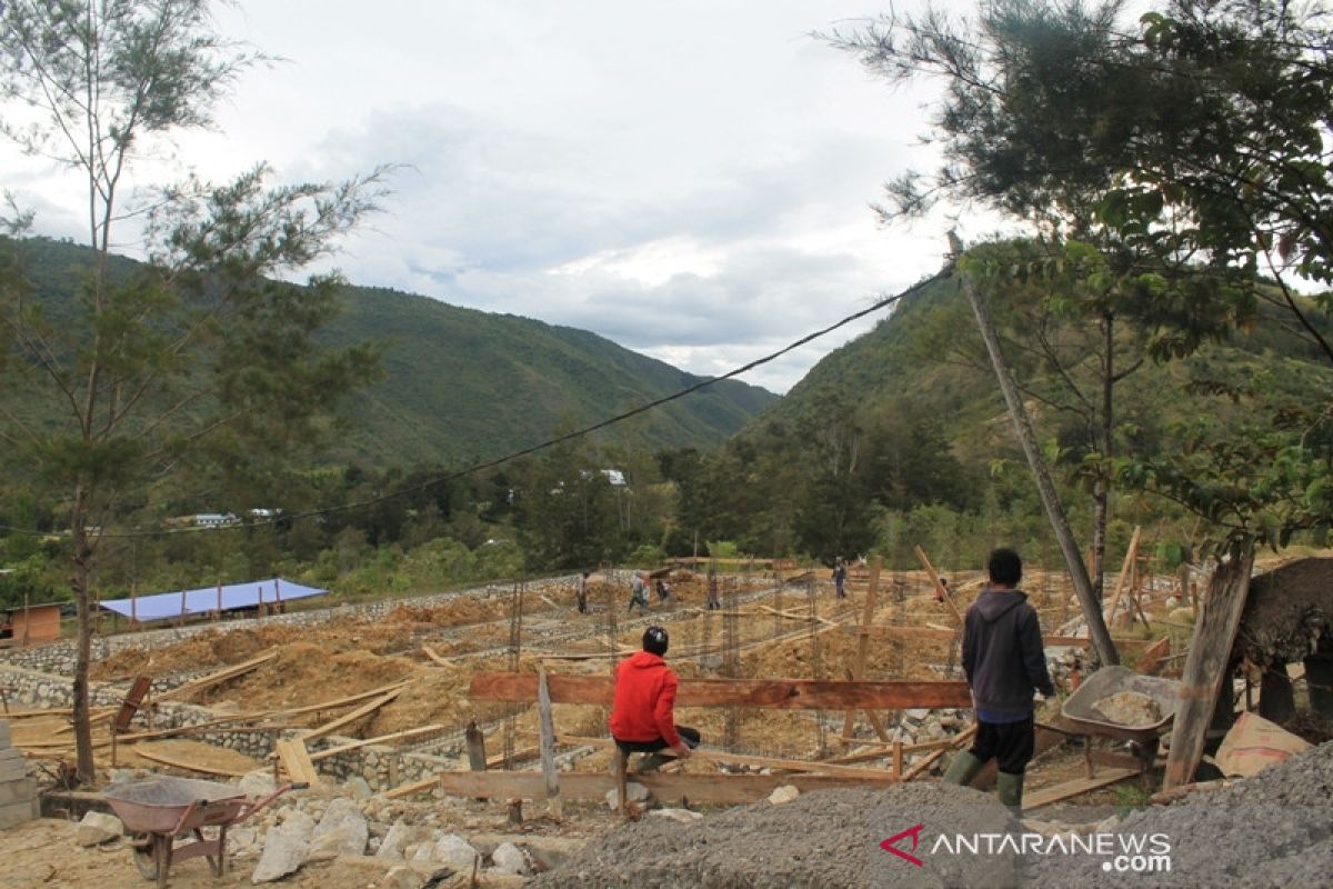
[[(285, 784), (260, 800), (251, 800), (233, 784), (160, 776), (113, 784), (103, 796), (133, 834), (131, 852), (144, 880), (167, 885), (173, 861), (204, 856), (215, 877), (227, 869), (227, 829), (251, 817), (288, 790), (304, 784)], [(212, 840), (204, 828), (217, 828)], [(195, 840), (176, 845), (193, 834)]]

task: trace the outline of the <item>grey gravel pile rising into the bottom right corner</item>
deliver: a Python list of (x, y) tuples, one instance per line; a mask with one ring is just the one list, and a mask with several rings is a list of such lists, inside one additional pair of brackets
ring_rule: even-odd
[(1170, 873), (1112, 873), (1102, 869), (1100, 857), (1044, 856), (1029, 858), (1024, 885), (1328, 886), (1333, 882), (1333, 742), (1232, 788), (1137, 810), (1116, 832), (1165, 834)]

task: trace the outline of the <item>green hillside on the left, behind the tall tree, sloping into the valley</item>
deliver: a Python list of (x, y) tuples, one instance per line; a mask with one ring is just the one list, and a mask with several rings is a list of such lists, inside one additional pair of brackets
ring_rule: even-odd
[[(47, 316), (72, 315), (87, 251), (32, 239), (23, 252)], [(116, 267), (128, 273), (135, 263), (117, 259)], [(595, 333), (384, 288), (349, 287), (343, 315), (323, 337), (381, 348), (383, 377), (349, 399), (335, 452), (379, 466), (500, 456), (701, 380)], [(726, 380), (617, 424), (600, 440), (652, 449), (716, 446), (774, 400), (765, 389)]]

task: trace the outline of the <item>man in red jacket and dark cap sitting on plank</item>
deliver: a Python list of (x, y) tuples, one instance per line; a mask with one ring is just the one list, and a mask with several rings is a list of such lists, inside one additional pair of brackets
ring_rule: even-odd
[(676, 673), (666, 666), (666, 630), (649, 626), (644, 630), (644, 650), (616, 668), (616, 698), (611, 706), (611, 737), (628, 757), (648, 753), (639, 772), (652, 772), (670, 748), (681, 758), (698, 746), (698, 732), (676, 725)]

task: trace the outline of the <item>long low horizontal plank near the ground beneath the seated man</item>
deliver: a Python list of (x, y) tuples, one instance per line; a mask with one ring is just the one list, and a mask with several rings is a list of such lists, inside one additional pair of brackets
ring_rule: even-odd
[[(710, 805), (744, 805), (757, 802), (777, 788), (790, 784), (802, 793), (830, 788), (866, 786), (865, 781), (832, 774), (632, 774), (629, 781), (643, 784), (663, 802), (688, 800)], [(567, 800), (601, 800), (616, 786), (611, 773), (567, 773), (560, 776), (560, 792)], [(440, 786), (449, 796), (485, 797), (492, 800), (541, 800), (545, 781), (540, 772), (444, 772), (436, 778), (416, 782), (413, 790), (397, 788), (384, 796)], [(399, 793), (404, 790), (404, 793)]]

